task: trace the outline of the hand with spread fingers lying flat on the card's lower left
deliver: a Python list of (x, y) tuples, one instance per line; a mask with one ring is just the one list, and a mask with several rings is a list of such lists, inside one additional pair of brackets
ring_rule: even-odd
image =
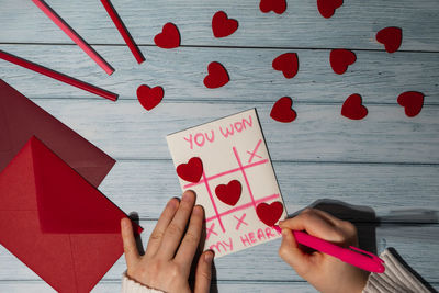
[[(138, 253), (131, 221), (121, 221), (127, 277), (165, 292), (191, 292), (189, 274), (201, 240), (204, 221), (202, 206), (194, 206), (195, 194), (183, 193), (181, 202), (171, 199), (149, 237), (145, 255)], [(189, 221), (189, 226), (188, 226)], [(194, 292), (209, 292), (213, 252), (205, 251), (198, 260)]]

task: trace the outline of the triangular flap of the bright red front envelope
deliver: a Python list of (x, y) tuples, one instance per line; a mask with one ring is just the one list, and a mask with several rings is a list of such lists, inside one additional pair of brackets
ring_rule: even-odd
[(43, 233), (120, 233), (125, 213), (41, 140), (30, 144)]

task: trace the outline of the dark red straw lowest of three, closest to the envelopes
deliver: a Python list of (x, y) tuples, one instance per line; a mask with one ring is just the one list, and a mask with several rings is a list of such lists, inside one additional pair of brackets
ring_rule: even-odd
[(16, 56), (14, 56), (12, 54), (9, 54), (9, 53), (5, 53), (4, 50), (1, 50), (1, 49), (0, 49), (0, 59), (16, 64), (16, 65), (22, 66), (24, 68), (31, 69), (31, 70), (33, 70), (35, 72), (45, 75), (47, 77), (52, 77), (53, 79), (63, 81), (65, 83), (68, 83), (70, 86), (77, 87), (79, 89), (89, 91), (91, 93), (98, 94), (98, 95), (106, 98), (109, 100), (112, 100), (112, 101), (116, 101), (117, 100), (117, 94), (114, 93), (114, 92), (106, 91), (104, 89), (94, 87), (94, 86), (92, 86), (90, 83), (87, 83), (87, 82), (78, 80), (76, 78), (66, 76), (66, 75), (64, 75), (61, 72), (52, 70), (52, 69), (49, 69), (47, 67), (34, 64), (34, 63), (29, 61), (26, 59), (16, 57)]

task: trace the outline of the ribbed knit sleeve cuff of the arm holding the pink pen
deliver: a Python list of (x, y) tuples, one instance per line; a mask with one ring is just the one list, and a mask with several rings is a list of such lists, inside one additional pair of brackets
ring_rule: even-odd
[(371, 273), (363, 293), (430, 292), (389, 249), (384, 250), (380, 258), (385, 262), (385, 272)]

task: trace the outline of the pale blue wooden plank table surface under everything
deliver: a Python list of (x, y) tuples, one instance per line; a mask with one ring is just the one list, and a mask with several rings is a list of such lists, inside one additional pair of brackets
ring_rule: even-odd
[[(362, 212), (327, 209), (353, 221), (362, 247), (395, 247), (434, 288), (439, 288), (439, 2), (438, 0), (346, 0), (331, 19), (316, 1), (289, 0), (282, 15), (261, 13), (258, 0), (113, 0), (140, 45), (138, 65), (100, 1), (47, 0), (115, 69), (104, 74), (30, 0), (0, 0), (0, 49), (120, 94), (117, 102), (0, 61), (0, 78), (117, 160), (100, 190), (125, 212), (139, 214), (144, 243), (162, 206), (180, 193), (165, 136), (256, 108), (289, 213), (319, 199), (353, 204)], [(212, 15), (224, 10), (238, 31), (214, 38)], [(161, 49), (153, 38), (167, 22), (182, 41)], [(394, 54), (375, 33), (403, 29)], [(357, 63), (338, 76), (328, 57), (348, 48)], [(271, 63), (295, 52), (300, 71), (285, 79)], [(211, 61), (222, 63), (230, 82), (206, 89)], [(145, 111), (139, 84), (161, 86), (164, 101)], [(424, 109), (409, 119), (396, 103), (404, 91), (425, 93)], [(340, 115), (352, 93), (363, 97), (361, 121)], [(274, 101), (289, 95), (297, 119), (270, 119)], [(334, 206), (338, 206), (337, 209)], [(349, 209), (352, 206), (348, 206)], [(349, 210), (348, 209), (348, 210)], [(315, 292), (278, 257), (279, 240), (216, 261), (219, 292)], [(121, 258), (93, 292), (117, 292)], [(0, 247), (0, 292), (53, 292)]]

